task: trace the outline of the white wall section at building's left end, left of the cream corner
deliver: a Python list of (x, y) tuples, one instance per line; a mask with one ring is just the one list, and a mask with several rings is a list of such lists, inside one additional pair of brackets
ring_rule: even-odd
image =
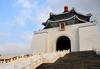
[(29, 53), (41, 53), (46, 51), (47, 33), (35, 34)]

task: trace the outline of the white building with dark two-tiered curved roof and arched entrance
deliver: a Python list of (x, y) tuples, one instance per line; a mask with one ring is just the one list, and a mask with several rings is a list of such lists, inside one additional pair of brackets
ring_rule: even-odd
[(30, 53), (58, 50), (84, 51), (100, 47), (100, 33), (96, 22), (90, 22), (91, 14), (78, 13), (74, 8), (61, 14), (50, 13), (42, 23), (42, 30), (34, 31)]

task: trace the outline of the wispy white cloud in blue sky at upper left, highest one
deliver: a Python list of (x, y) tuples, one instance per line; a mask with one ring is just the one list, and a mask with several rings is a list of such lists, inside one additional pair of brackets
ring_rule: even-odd
[(32, 13), (37, 8), (37, 2), (31, 3), (29, 0), (18, 0), (14, 6), (21, 8), (13, 20), (14, 26), (25, 25), (27, 20), (33, 20)]

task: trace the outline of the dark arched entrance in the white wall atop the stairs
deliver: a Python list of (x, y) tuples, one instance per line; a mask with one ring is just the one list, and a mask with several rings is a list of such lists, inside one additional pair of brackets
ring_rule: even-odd
[(70, 49), (71, 51), (71, 41), (68, 37), (66, 36), (61, 36), (57, 39), (56, 43), (56, 51), (58, 50), (68, 50)]

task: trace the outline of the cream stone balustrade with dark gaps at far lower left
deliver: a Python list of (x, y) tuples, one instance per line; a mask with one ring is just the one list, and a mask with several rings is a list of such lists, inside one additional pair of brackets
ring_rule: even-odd
[(35, 54), (13, 54), (13, 55), (2, 55), (0, 56), (0, 64), (9, 64), (13, 63), (15, 61), (24, 59), (24, 58), (30, 58), (34, 56)]

